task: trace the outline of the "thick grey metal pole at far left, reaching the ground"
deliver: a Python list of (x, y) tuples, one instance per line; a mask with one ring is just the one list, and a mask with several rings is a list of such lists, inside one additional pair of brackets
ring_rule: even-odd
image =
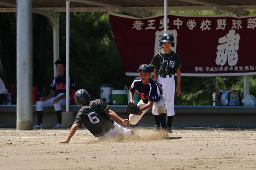
[[(17, 130), (31, 130), (32, 106), (32, 0), (17, 0)], [(25, 43), (24, 43), (25, 42)]]

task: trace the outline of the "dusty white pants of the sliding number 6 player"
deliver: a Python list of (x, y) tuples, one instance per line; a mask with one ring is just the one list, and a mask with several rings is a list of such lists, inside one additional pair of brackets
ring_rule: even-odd
[(98, 139), (99, 141), (106, 140), (106, 139), (111, 139), (112, 137), (117, 137), (117, 136), (130, 136), (132, 135), (132, 131), (130, 129), (126, 129), (120, 125), (118, 125), (114, 121), (114, 128), (110, 129), (105, 135), (99, 136)]

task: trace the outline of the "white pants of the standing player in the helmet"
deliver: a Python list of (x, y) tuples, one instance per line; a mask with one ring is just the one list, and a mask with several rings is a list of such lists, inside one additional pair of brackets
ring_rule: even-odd
[(174, 112), (174, 95), (175, 95), (174, 75), (172, 75), (172, 77), (167, 75), (166, 78), (162, 78), (162, 77), (160, 77), (160, 75), (158, 75), (157, 82), (162, 84), (162, 90), (166, 94), (165, 108), (167, 111), (167, 115), (168, 116), (175, 115), (175, 112)]

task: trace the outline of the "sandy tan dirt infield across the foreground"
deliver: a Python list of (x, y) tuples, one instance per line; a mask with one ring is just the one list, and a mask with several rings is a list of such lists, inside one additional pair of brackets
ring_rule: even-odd
[(67, 133), (0, 129), (0, 169), (256, 169), (254, 130), (138, 129), (141, 139), (98, 142), (79, 129), (69, 144), (58, 144)]

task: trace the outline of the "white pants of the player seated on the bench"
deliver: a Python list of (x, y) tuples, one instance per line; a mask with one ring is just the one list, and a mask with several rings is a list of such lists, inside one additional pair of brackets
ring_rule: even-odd
[(62, 110), (61, 107), (66, 105), (66, 98), (60, 99), (56, 104), (53, 104), (53, 100), (63, 94), (64, 93), (60, 93), (57, 96), (47, 99), (45, 101), (38, 101), (36, 103), (36, 111), (43, 111), (44, 107), (52, 107), (52, 106), (54, 106), (55, 111)]

